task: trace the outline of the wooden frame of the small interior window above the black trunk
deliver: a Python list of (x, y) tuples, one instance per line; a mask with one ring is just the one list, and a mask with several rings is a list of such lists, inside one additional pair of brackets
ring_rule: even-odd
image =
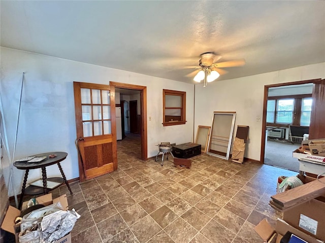
[[(166, 107), (166, 95), (174, 95), (181, 97), (181, 107)], [(165, 110), (166, 109), (180, 109), (181, 118), (178, 121), (167, 121)], [(182, 125), (186, 123), (186, 92), (175, 90), (163, 90), (163, 126)]]

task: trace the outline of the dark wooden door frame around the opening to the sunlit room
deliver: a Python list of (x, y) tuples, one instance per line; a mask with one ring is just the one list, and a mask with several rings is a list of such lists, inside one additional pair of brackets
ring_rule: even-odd
[(265, 135), (266, 135), (266, 113), (267, 113), (267, 104), (268, 104), (268, 95), (269, 88), (281, 87), (281, 86), (291, 86), (291, 85), (304, 85), (311, 84), (315, 82), (319, 82), (321, 78), (302, 80), (290, 83), (280, 83), (273, 85), (265, 85), (264, 86), (264, 101), (263, 101), (263, 119), (262, 119), (262, 141), (261, 141), (261, 157), (259, 158), (259, 162), (264, 164), (264, 156), (265, 156)]

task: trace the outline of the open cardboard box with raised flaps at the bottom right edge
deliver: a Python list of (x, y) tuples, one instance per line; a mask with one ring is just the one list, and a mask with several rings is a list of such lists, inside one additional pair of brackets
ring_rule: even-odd
[(261, 236), (264, 242), (280, 243), (282, 236), (290, 231), (291, 233), (297, 235), (298, 237), (306, 240), (309, 243), (323, 243), (324, 241), (319, 240), (309, 234), (302, 232), (301, 230), (291, 226), (284, 220), (278, 219), (276, 221), (276, 227), (273, 228), (266, 219), (263, 219), (254, 228), (256, 233)]

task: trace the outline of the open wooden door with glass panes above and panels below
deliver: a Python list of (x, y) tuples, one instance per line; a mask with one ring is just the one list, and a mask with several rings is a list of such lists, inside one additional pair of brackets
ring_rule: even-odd
[(80, 181), (117, 169), (115, 88), (74, 82)]

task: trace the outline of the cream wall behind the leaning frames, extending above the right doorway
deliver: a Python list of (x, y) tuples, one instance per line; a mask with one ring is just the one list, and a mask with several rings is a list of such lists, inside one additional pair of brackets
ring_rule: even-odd
[[(206, 88), (196, 85), (194, 134), (198, 126), (211, 126), (213, 111), (236, 111), (236, 124), (249, 126), (245, 157), (261, 154), (264, 86), (325, 77), (325, 63), (284, 69), (253, 76), (215, 81)], [(256, 121), (260, 117), (261, 121)]]

